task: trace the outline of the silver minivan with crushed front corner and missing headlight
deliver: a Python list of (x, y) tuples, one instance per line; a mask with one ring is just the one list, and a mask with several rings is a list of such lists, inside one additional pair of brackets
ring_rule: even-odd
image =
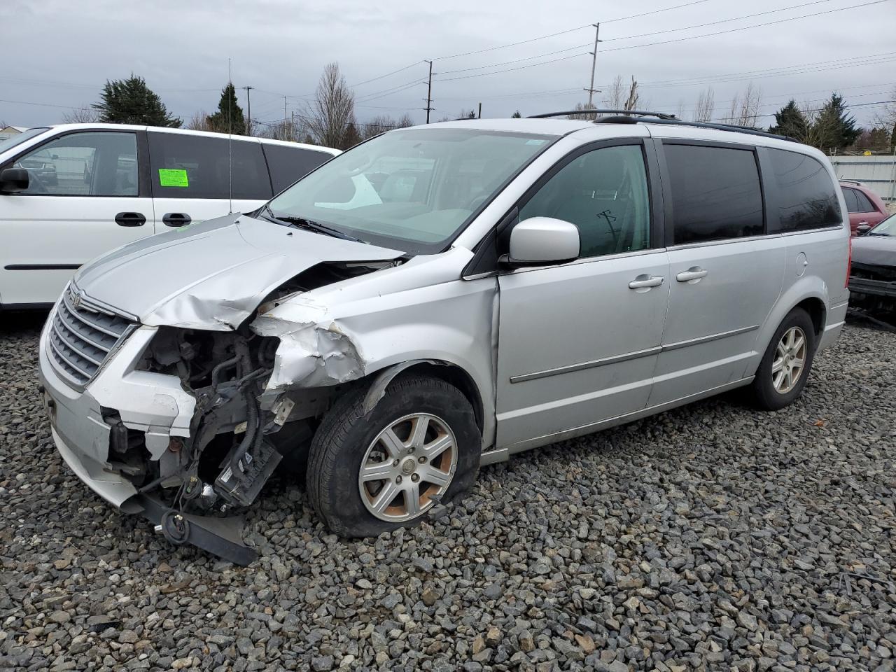
[(794, 401), (846, 314), (845, 213), (823, 155), (769, 134), (395, 130), (83, 266), (40, 340), (53, 436), (108, 502), (237, 563), (280, 461), (331, 530), (375, 535), (514, 452), (737, 387)]

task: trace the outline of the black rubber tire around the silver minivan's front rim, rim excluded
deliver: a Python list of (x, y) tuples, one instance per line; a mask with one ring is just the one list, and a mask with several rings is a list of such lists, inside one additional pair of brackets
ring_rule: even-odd
[(383, 531), (426, 520), (430, 506), (409, 521), (383, 521), (367, 510), (358, 488), (361, 461), (377, 435), (410, 413), (427, 413), (451, 428), (457, 462), (441, 504), (456, 501), (476, 480), (482, 438), (470, 401), (449, 383), (417, 375), (397, 377), (385, 396), (366, 416), (361, 409), (366, 387), (347, 392), (323, 418), (311, 442), (306, 484), (314, 510), (334, 533), (343, 537), (374, 537)]

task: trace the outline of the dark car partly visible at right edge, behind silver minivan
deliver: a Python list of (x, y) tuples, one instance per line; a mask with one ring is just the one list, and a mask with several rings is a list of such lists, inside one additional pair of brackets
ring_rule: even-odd
[(896, 215), (852, 241), (849, 303), (896, 310)]

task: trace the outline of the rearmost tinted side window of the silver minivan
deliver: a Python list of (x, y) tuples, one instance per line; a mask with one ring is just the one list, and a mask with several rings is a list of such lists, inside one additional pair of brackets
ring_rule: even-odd
[[(796, 151), (768, 152), (778, 185), (780, 215), (780, 224), (772, 222), (769, 232), (840, 224), (837, 190), (824, 166), (811, 156)], [(843, 193), (849, 191), (852, 190), (844, 189)]]

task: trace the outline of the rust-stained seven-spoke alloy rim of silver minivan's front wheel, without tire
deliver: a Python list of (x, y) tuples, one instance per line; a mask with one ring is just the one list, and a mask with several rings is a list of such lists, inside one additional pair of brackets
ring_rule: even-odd
[(443, 419), (404, 416), (367, 448), (358, 473), (361, 501), (382, 521), (409, 521), (444, 495), (456, 467), (457, 440)]

